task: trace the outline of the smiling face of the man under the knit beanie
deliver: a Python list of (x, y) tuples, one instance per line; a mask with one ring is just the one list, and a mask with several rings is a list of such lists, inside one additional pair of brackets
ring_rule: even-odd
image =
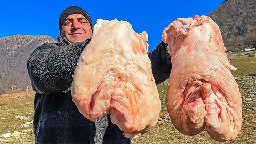
[(84, 42), (92, 38), (92, 29), (82, 14), (71, 14), (63, 21), (61, 36), (70, 43)]

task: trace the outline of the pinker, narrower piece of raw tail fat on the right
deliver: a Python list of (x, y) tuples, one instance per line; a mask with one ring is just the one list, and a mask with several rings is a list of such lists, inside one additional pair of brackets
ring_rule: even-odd
[(235, 139), (242, 99), (219, 27), (196, 15), (173, 21), (162, 36), (172, 61), (167, 111), (176, 129), (186, 135), (206, 129), (214, 140)]

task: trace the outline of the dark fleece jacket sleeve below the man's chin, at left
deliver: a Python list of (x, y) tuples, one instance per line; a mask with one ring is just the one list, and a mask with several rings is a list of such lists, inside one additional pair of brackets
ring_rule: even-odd
[(33, 90), (47, 95), (71, 87), (77, 61), (89, 41), (90, 39), (66, 46), (45, 43), (37, 47), (27, 61)]

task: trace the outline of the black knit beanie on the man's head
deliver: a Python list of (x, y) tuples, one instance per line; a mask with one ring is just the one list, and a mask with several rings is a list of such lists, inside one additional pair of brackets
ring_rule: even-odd
[(65, 10), (62, 11), (59, 18), (59, 29), (60, 29), (60, 35), (61, 35), (61, 28), (63, 25), (64, 20), (68, 17), (68, 15), (79, 13), (84, 15), (84, 17), (89, 21), (92, 31), (93, 31), (93, 25), (90, 15), (81, 7), (78, 6), (69, 6)]

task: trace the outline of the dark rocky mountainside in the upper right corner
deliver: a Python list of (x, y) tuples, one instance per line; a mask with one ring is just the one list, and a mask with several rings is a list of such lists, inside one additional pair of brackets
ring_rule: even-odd
[(220, 27), (228, 51), (256, 46), (255, 9), (255, 0), (225, 0), (208, 14)]

